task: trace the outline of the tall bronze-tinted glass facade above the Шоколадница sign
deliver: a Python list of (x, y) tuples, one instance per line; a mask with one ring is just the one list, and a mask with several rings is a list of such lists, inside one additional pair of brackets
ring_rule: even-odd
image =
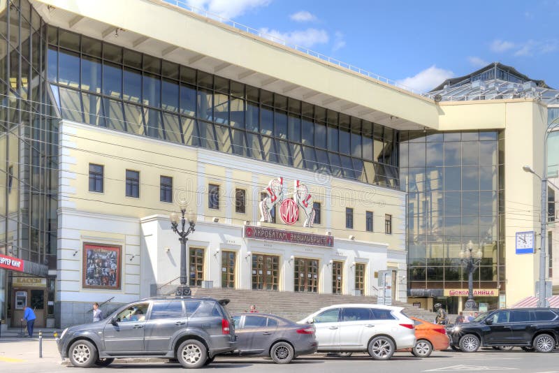
[[(400, 175), (407, 197), (411, 296), (442, 296), (467, 288), (460, 250), (483, 247), (474, 288), (506, 290), (504, 139), (497, 131), (400, 133)], [(494, 299), (497, 302), (497, 298)]]

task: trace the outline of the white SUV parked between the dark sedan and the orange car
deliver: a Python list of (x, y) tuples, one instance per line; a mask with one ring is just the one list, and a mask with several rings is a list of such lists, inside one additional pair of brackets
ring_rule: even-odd
[(367, 351), (375, 360), (388, 360), (397, 349), (415, 346), (414, 321), (402, 314), (402, 309), (384, 305), (332, 305), (299, 323), (314, 324), (318, 352), (350, 355)]

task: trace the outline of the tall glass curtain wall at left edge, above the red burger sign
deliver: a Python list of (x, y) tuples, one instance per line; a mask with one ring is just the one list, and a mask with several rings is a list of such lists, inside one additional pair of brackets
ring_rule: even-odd
[(1, 3), (0, 254), (56, 268), (58, 140), (46, 34), (27, 0)]

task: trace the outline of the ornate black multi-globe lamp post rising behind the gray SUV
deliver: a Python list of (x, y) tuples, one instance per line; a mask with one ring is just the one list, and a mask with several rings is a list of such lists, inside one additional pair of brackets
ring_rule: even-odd
[(187, 241), (188, 235), (194, 232), (194, 226), (196, 226), (196, 215), (189, 211), (187, 214), (187, 219), (184, 219), (184, 214), (187, 212), (187, 203), (184, 200), (179, 202), (180, 214), (173, 212), (170, 214), (170, 226), (173, 228), (173, 232), (179, 235), (180, 242), (180, 286), (175, 291), (177, 296), (188, 296), (190, 295), (190, 287), (187, 284)]

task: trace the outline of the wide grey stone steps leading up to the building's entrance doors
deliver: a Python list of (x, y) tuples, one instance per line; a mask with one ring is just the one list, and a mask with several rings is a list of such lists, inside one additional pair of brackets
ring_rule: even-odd
[[(259, 312), (277, 314), (293, 321), (304, 319), (322, 307), (344, 303), (377, 304), (377, 297), (338, 294), (291, 293), (283, 291), (256, 291), (226, 288), (192, 288), (192, 295), (215, 299), (229, 299), (227, 306), (231, 314), (245, 312), (256, 305)], [(412, 307), (405, 302), (393, 302), (393, 306), (404, 307), (407, 316), (433, 322), (435, 313)]]

